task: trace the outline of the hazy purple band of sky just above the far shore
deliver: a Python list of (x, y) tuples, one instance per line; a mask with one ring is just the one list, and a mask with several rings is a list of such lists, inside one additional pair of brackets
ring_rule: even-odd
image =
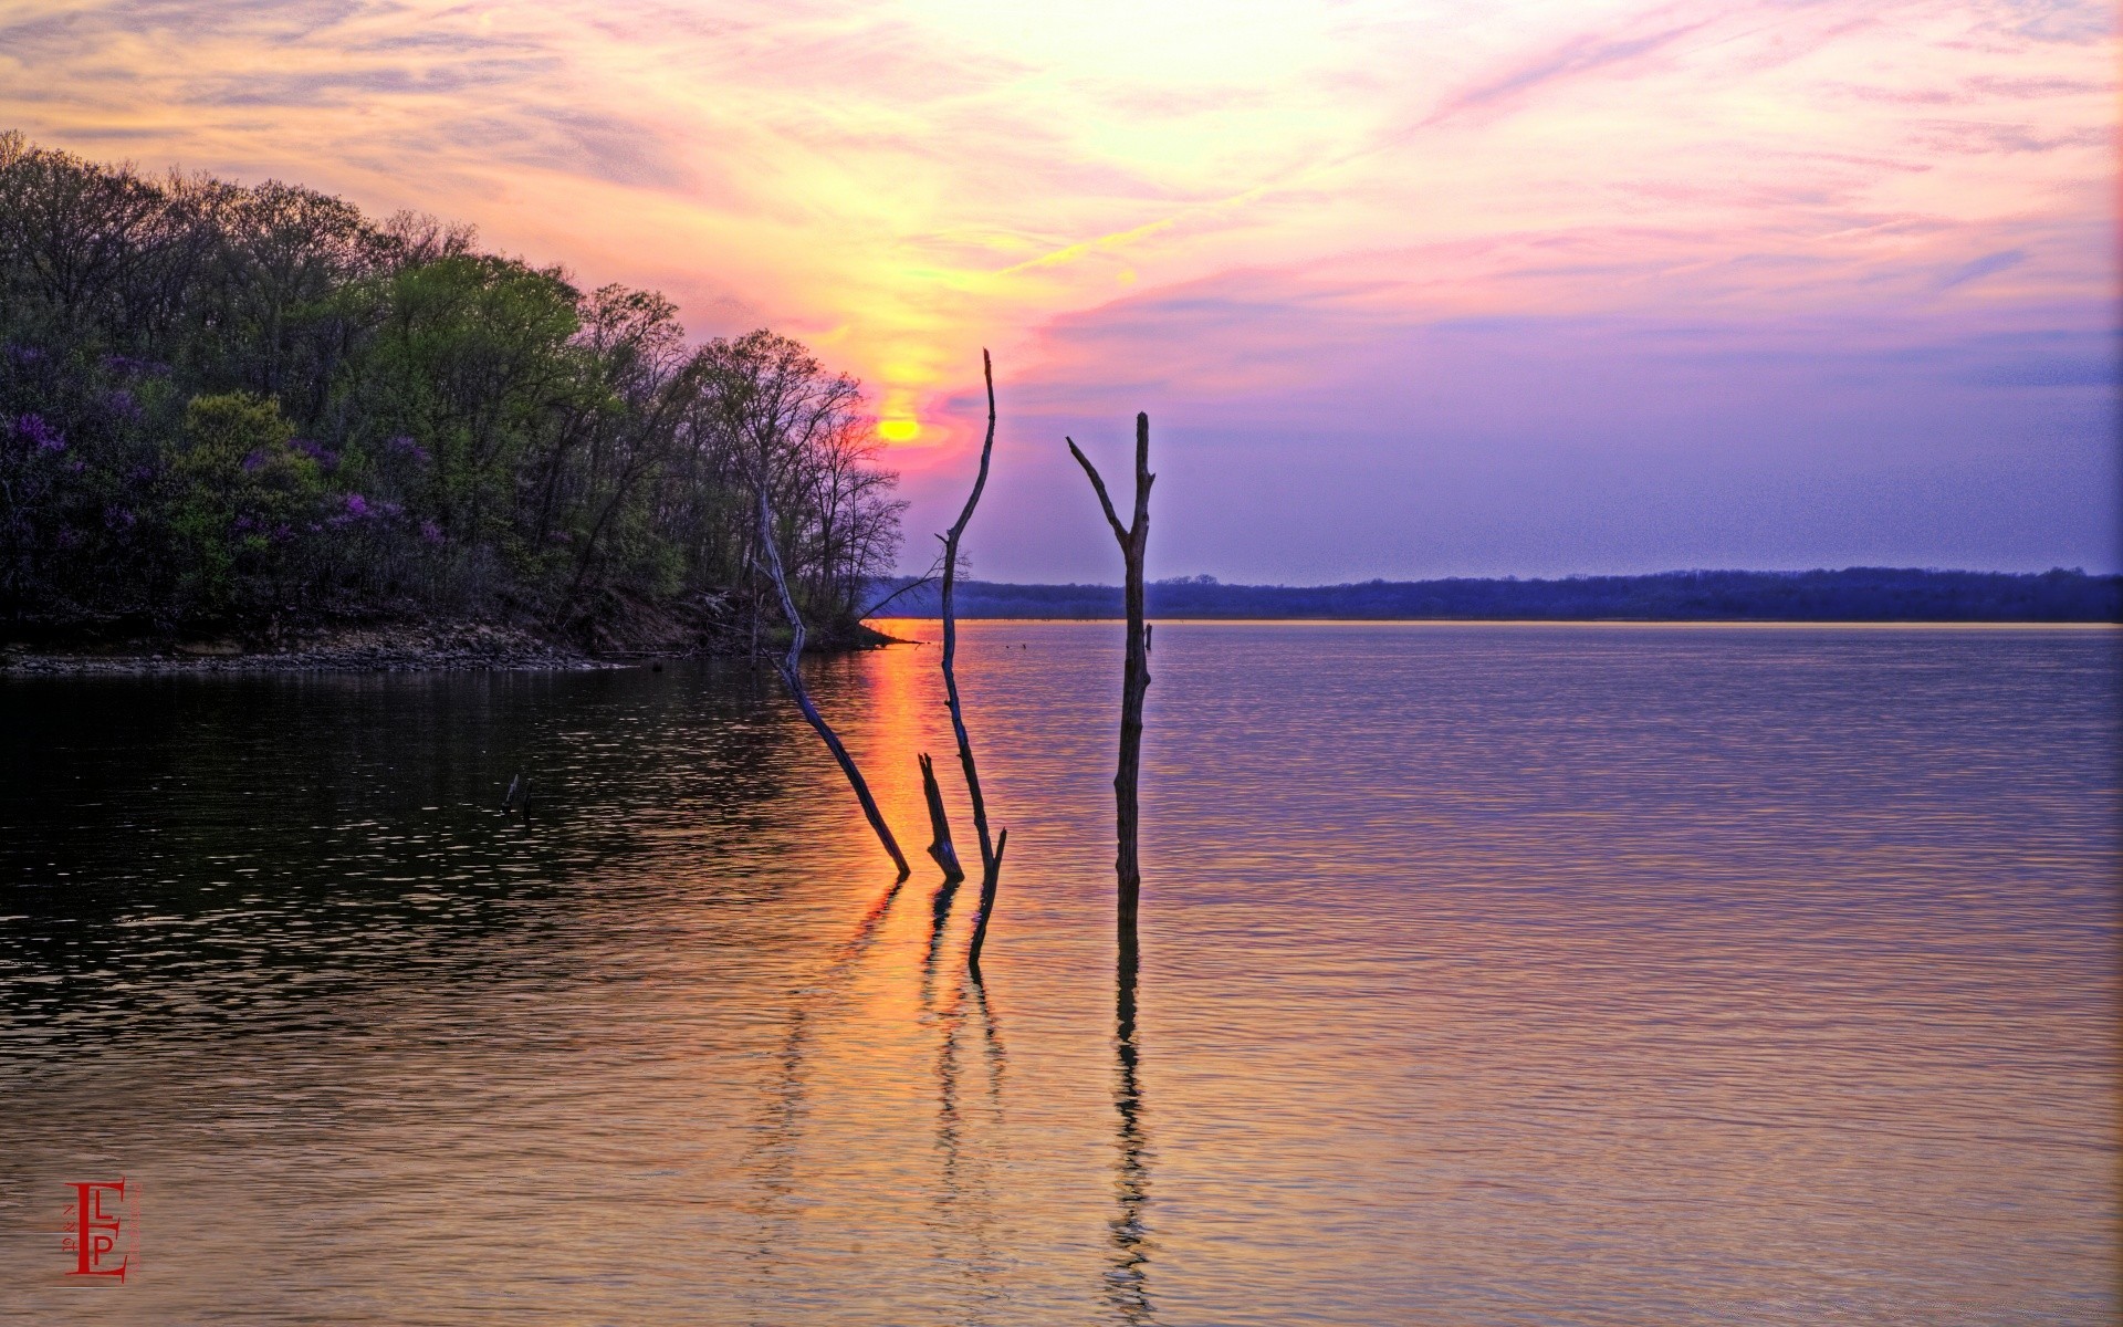
[[(1134, 403), (1151, 412), (1159, 473), (1155, 575), (2112, 571), (2117, 340), (2108, 308), (2057, 312), (2027, 331), (1446, 318), (1365, 327), (1301, 386), (1191, 391), (1153, 374), (1098, 393), (1006, 386), (974, 573), (1115, 580), (1117, 552), (1059, 435), (1112, 482)], [(1189, 314), (1144, 310), (1138, 325), (1144, 342), (1180, 327), (1214, 357), (1227, 316), (1202, 299)], [(1136, 318), (1106, 310), (1085, 333), (1125, 338)], [(1136, 355), (1104, 348), (1166, 359)], [(911, 484), (911, 531), (949, 522), (955, 480)]]

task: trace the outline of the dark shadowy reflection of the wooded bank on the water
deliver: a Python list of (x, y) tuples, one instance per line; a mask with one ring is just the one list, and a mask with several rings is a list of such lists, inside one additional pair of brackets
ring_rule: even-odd
[[(380, 998), (446, 1006), (497, 972), (580, 979), (641, 904), (720, 887), (722, 841), (813, 837), (792, 813), (798, 730), (754, 690), (711, 662), (11, 682), (0, 730), (36, 760), (0, 760), (0, 945), (21, 964), (0, 1021), (36, 1009), (59, 1051), (146, 1023), (236, 1034), (274, 1004), (361, 1026)], [(518, 771), (529, 826), (497, 811)]]

